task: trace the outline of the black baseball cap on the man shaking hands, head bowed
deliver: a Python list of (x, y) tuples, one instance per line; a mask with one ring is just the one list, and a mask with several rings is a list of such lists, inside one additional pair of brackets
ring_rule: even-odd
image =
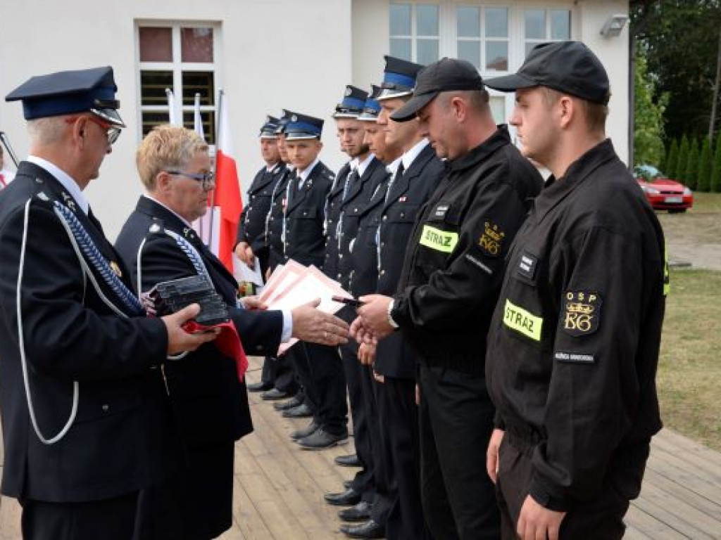
[(483, 79), (472, 63), (456, 58), (441, 58), (418, 72), (413, 97), (391, 114), (391, 120), (407, 122), (441, 92), (482, 90)]

